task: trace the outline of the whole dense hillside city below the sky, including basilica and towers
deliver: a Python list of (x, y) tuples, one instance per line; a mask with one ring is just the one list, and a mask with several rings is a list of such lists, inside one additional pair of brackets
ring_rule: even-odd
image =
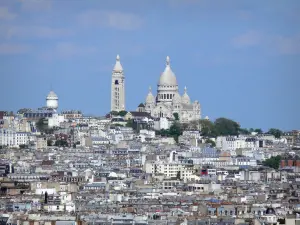
[(60, 111), (54, 90), (0, 111), (1, 225), (300, 224), (300, 130), (211, 121), (170, 57), (136, 109), (119, 55), (111, 81), (106, 115)]

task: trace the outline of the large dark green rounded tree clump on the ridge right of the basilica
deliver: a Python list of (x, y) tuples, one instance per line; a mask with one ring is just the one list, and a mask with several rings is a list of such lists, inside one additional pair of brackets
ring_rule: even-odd
[(218, 118), (214, 122), (215, 129), (218, 135), (238, 135), (240, 130), (240, 125), (227, 118)]

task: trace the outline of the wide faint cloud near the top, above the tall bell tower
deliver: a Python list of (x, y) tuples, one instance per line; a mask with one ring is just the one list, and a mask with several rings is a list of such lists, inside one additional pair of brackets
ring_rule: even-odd
[(109, 27), (120, 30), (133, 30), (142, 25), (142, 19), (135, 14), (98, 10), (90, 10), (80, 14), (78, 22), (83, 26)]

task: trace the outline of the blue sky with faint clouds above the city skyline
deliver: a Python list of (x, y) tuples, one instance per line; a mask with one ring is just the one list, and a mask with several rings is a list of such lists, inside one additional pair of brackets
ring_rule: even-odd
[(202, 116), (300, 129), (299, 0), (1, 0), (0, 110), (104, 115), (119, 54), (126, 109), (156, 92), (166, 56)]

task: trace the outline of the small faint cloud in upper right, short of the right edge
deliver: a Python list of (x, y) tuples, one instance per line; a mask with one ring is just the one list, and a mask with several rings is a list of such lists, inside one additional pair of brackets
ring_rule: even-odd
[(248, 31), (233, 38), (232, 43), (235, 47), (249, 47), (260, 44), (262, 35), (254, 30)]

